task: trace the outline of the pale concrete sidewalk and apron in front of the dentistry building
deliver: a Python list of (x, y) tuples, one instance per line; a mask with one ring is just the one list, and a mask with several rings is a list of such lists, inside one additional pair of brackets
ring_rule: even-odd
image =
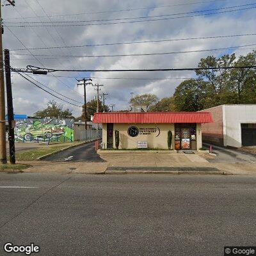
[[(111, 156), (112, 155), (112, 156)], [(114, 156), (113, 156), (114, 155)], [(49, 161), (31, 161), (26, 162), (32, 167), (24, 172), (38, 173), (105, 173), (107, 168), (130, 168), (132, 170), (140, 168), (166, 168), (179, 172), (196, 168), (202, 170), (206, 168), (216, 168), (220, 172), (236, 175), (256, 174), (256, 163), (209, 163), (204, 158), (204, 154), (106, 154), (100, 155), (106, 163), (91, 163), (85, 161), (74, 162), (49, 162)], [(174, 169), (173, 169), (174, 168)]]

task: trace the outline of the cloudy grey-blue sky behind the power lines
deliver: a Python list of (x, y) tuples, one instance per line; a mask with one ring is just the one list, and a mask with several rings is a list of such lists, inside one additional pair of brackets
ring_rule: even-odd
[[(236, 52), (239, 56), (239, 54), (252, 51), (253, 46), (222, 51), (156, 56), (98, 58), (77, 58), (77, 56), (196, 51), (256, 44), (255, 35), (170, 41), (170, 39), (179, 38), (256, 33), (256, 2), (252, 0), (16, 0), (15, 2), (14, 8), (12, 6), (3, 6), (2, 8), (4, 26), (7, 27), (4, 28), (3, 44), (4, 48), (17, 50), (11, 51), (11, 65), (15, 68), (25, 68), (27, 65), (79, 70), (186, 68), (196, 67), (200, 58), (209, 54), (220, 56), (227, 52)], [(228, 8), (230, 6), (237, 7)], [(229, 12), (237, 9), (243, 10)], [(205, 10), (211, 11), (200, 12)], [(214, 14), (204, 15), (206, 13)], [(131, 19), (134, 17), (136, 19)], [(138, 17), (146, 18), (139, 19)], [(152, 19), (155, 20), (152, 21)], [(80, 20), (90, 21), (79, 22)], [(139, 20), (140, 22), (138, 22)], [(141, 20), (150, 21), (141, 22)], [(70, 24), (83, 26), (69, 26)], [(84, 26), (85, 24), (86, 26)], [(169, 41), (67, 48), (67, 46), (74, 45), (115, 44), (150, 40)], [(31, 49), (49, 47), (63, 48)], [(29, 50), (20, 51), (18, 49)], [(44, 56), (36, 56), (36, 54)], [(47, 76), (33, 76), (40, 83), (72, 100), (59, 95), (62, 99), (79, 106), (81, 105), (79, 102), (83, 102), (83, 88), (82, 86), (77, 87), (76, 78), (81, 79), (82, 77), (95, 77), (93, 83), (104, 84), (102, 92), (108, 93), (106, 104), (115, 104), (116, 110), (118, 110), (129, 108), (128, 102), (131, 92), (134, 95), (155, 93), (159, 98), (168, 97), (173, 95), (175, 87), (183, 81), (182, 78), (195, 77), (195, 73), (184, 71), (54, 72)], [(17, 114), (33, 115), (39, 109), (45, 108), (48, 100), (54, 99), (48, 93), (20, 77), (19, 74), (12, 75), (12, 82), (13, 97), (15, 98), (14, 111)], [(87, 100), (93, 99), (95, 96), (94, 88), (88, 86), (87, 92)], [(65, 108), (71, 108), (75, 116), (81, 115), (81, 108), (58, 99), (56, 101), (63, 104)]]

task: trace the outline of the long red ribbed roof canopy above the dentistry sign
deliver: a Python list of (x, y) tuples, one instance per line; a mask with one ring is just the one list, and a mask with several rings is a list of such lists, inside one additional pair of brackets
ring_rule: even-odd
[(174, 124), (174, 123), (212, 123), (209, 112), (114, 112), (95, 113), (96, 124)]

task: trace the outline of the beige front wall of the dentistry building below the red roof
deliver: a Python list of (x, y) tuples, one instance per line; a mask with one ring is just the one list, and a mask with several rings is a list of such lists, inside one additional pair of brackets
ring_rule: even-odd
[[(136, 137), (131, 137), (128, 135), (127, 130), (131, 126), (136, 126), (138, 129), (140, 128), (154, 128), (158, 127), (160, 129), (159, 136), (156, 137), (158, 132), (152, 133), (150, 135), (139, 134)], [(115, 130), (119, 131), (120, 143), (119, 148), (137, 148), (137, 141), (148, 141), (148, 148), (161, 148), (168, 149), (167, 145), (167, 132), (169, 130), (172, 131), (173, 139), (172, 139), (172, 149), (174, 149), (174, 124), (114, 124), (113, 131), (113, 141), (115, 147)], [(102, 126), (102, 142), (105, 143), (105, 147), (107, 148), (107, 124), (103, 124)], [(197, 149), (202, 148), (202, 131), (201, 124), (196, 124), (196, 147)]]

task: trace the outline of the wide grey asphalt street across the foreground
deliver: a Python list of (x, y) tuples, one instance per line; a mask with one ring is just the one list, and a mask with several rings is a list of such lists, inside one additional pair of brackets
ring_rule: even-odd
[(0, 173), (0, 255), (223, 255), (256, 245), (255, 200), (255, 176)]

